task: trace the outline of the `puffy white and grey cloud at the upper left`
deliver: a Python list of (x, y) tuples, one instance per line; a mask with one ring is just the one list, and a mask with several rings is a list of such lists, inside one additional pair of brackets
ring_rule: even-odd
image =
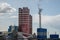
[(11, 7), (8, 3), (0, 3), (0, 15), (1, 13), (12, 13), (15, 12), (16, 9)]

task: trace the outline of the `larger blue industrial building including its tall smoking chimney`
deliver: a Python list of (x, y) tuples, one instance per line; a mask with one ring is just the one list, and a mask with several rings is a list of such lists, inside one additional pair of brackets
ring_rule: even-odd
[(39, 28), (37, 28), (37, 39), (38, 40), (47, 40), (47, 29), (41, 27), (41, 8), (39, 9)]

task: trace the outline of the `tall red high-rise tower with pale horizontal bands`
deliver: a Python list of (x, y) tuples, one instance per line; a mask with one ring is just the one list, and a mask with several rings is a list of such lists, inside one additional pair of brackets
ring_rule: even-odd
[(18, 31), (32, 34), (32, 16), (27, 7), (19, 8), (19, 29)]

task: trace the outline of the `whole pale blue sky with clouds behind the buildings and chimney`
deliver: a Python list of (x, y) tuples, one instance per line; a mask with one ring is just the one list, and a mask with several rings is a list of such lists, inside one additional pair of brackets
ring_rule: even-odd
[(38, 4), (42, 10), (42, 28), (49, 34), (60, 34), (60, 0), (0, 0), (0, 31), (18, 26), (18, 8), (28, 7), (33, 17), (33, 33), (39, 28)]

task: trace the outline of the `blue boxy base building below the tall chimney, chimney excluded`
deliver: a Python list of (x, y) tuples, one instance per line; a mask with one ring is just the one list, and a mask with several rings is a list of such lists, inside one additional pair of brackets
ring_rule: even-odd
[(47, 39), (47, 29), (37, 28), (37, 39), (46, 40)]

